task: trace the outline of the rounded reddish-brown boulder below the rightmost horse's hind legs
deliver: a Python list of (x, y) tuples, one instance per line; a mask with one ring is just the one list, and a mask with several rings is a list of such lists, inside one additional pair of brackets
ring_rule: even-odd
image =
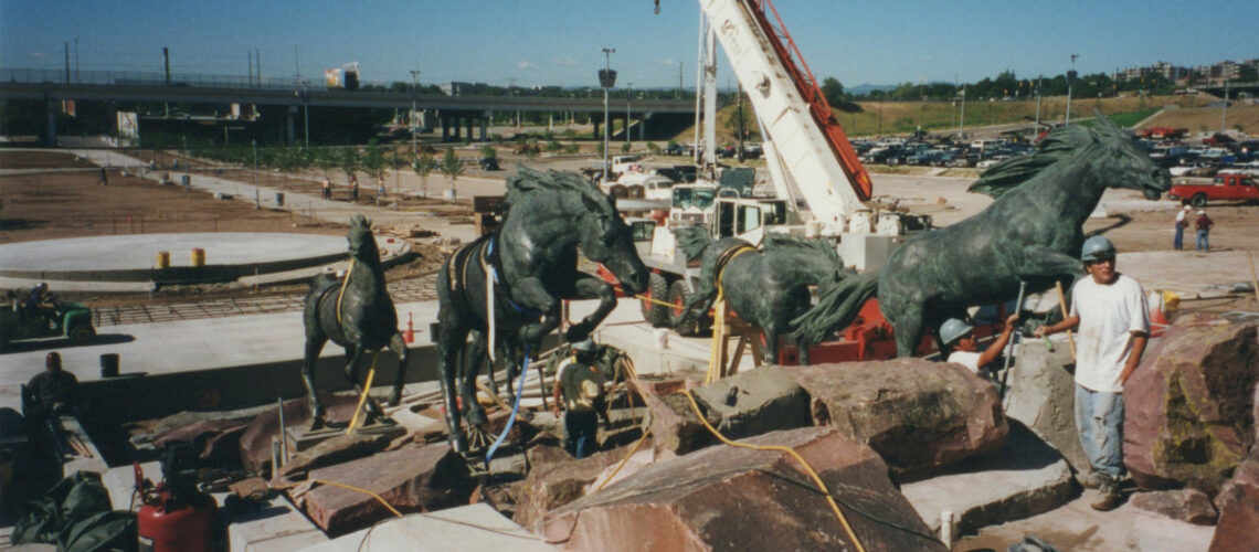
[(788, 366), (817, 425), (866, 443), (901, 475), (995, 450), (1010, 433), (992, 384), (922, 358)]

